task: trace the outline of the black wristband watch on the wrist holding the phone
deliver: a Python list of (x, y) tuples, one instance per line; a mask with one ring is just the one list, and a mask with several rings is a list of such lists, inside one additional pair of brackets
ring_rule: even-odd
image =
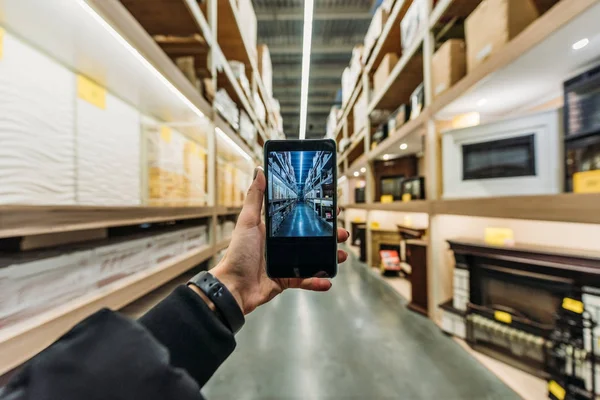
[(242, 329), (242, 326), (246, 322), (244, 313), (240, 309), (235, 297), (233, 297), (221, 281), (209, 272), (202, 271), (190, 279), (187, 284), (196, 286), (214, 303), (219, 316), (229, 329), (231, 329), (231, 332), (235, 334)]

